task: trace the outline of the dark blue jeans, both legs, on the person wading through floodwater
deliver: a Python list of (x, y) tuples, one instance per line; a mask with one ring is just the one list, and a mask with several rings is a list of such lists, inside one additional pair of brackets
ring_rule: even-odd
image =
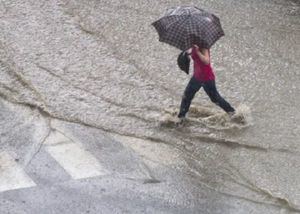
[(214, 80), (207, 81), (207, 82), (199, 82), (192, 77), (189, 84), (185, 88), (184, 95), (182, 97), (181, 105), (180, 105), (180, 112), (178, 117), (184, 117), (186, 113), (189, 111), (192, 99), (194, 98), (195, 94), (199, 89), (203, 86), (204, 91), (209, 96), (210, 100), (220, 106), (224, 111), (234, 112), (234, 108), (226, 101), (223, 97), (219, 94), (216, 88), (216, 84)]

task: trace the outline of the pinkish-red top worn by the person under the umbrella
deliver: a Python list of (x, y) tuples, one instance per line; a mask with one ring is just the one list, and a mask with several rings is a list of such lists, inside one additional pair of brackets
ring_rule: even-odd
[[(210, 51), (209, 51), (209, 55), (210, 55)], [(213, 72), (210, 63), (205, 65), (199, 59), (199, 56), (197, 55), (195, 48), (192, 49), (191, 56), (194, 61), (194, 77), (196, 78), (196, 80), (200, 82), (215, 80), (215, 74)]]

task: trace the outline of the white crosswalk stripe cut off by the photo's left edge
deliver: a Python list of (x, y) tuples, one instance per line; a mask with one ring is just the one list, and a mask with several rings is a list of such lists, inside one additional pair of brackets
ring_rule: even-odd
[(36, 186), (7, 152), (0, 152), (0, 192)]

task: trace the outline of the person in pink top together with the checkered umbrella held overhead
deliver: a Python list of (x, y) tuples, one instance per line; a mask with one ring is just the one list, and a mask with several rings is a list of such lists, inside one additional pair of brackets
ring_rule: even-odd
[(233, 115), (235, 109), (217, 91), (215, 75), (210, 64), (209, 48), (224, 36), (220, 19), (198, 7), (179, 6), (167, 10), (164, 16), (152, 25), (158, 32), (159, 41), (182, 51), (191, 49), (194, 75), (184, 91), (178, 114), (180, 121), (185, 118), (196, 92), (201, 87), (212, 102), (229, 115)]

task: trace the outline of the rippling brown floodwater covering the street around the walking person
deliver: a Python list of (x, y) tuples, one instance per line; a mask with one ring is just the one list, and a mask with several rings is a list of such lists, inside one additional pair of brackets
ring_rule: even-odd
[(0, 2), (0, 95), (45, 117), (180, 150), (220, 194), (300, 211), (300, 12), (297, 1), (192, 1), (226, 36), (212, 49), (234, 122), (203, 91), (172, 125), (190, 76), (151, 22), (190, 1)]

